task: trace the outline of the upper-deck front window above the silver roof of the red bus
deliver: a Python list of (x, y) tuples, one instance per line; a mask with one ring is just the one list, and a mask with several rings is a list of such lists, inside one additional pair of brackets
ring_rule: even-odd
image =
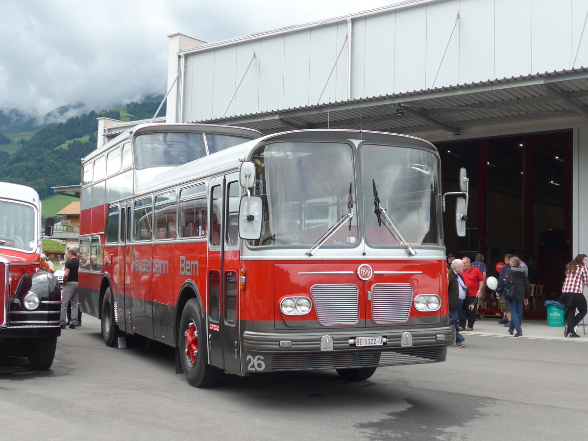
[(249, 141), (249, 138), (206, 133), (145, 133), (135, 138), (135, 168), (182, 165), (208, 154)]

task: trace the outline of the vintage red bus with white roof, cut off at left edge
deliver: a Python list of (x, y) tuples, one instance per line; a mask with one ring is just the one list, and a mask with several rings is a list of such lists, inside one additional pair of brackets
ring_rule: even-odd
[(34, 370), (51, 367), (61, 333), (61, 291), (41, 269), (40, 224), (34, 189), (0, 182), (0, 353), (28, 357)]

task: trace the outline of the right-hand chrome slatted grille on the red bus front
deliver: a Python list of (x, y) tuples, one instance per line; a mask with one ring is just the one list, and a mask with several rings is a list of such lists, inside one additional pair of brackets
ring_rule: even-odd
[(410, 314), (413, 289), (408, 283), (376, 284), (372, 287), (374, 323), (406, 322)]

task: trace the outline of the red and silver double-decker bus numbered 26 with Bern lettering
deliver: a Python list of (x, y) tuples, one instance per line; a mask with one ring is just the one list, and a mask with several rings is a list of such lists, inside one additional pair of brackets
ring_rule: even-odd
[(126, 333), (176, 348), (193, 386), (223, 372), (366, 379), (441, 362), (455, 342), (429, 142), (144, 124), (83, 174), (83, 312), (109, 346)]

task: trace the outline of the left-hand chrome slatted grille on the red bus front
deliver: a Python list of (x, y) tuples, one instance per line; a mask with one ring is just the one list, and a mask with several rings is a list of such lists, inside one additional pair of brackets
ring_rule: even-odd
[(321, 325), (355, 325), (359, 321), (356, 285), (315, 285), (310, 288)]

